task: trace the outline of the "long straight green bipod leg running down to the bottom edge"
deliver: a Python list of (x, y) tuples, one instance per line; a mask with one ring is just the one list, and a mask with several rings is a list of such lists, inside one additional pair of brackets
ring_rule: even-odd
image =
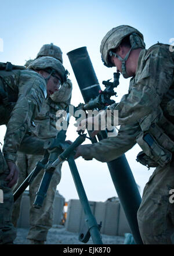
[(79, 176), (77, 166), (74, 161), (74, 156), (70, 155), (67, 161), (70, 166), (71, 174), (73, 176), (73, 180), (75, 183), (75, 187), (77, 189), (79, 200), (85, 212), (85, 221), (86, 221), (86, 224), (88, 225), (90, 236), (92, 237), (93, 243), (103, 244), (100, 236), (100, 232), (99, 232), (99, 226), (97, 225), (96, 219), (93, 216), (92, 211), (90, 209), (88, 198), (86, 196), (84, 186), (81, 181), (81, 177)]

